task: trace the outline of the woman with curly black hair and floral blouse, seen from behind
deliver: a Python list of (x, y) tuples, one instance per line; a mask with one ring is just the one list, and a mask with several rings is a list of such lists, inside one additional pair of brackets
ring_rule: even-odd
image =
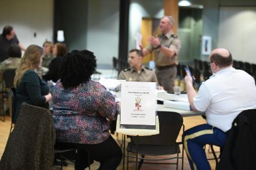
[(75, 169), (88, 167), (90, 160), (99, 169), (116, 169), (122, 159), (121, 148), (109, 133), (109, 120), (119, 112), (115, 99), (98, 82), (91, 80), (96, 58), (88, 50), (73, 50), (60, 65), (60, 80), (52, 88), (56, 145), (79, 149)]

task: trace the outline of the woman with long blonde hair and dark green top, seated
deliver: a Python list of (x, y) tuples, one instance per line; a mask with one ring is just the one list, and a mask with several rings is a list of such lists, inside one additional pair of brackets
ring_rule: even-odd
[(16, 69), (14, 78), (14, 87), (16, 88), (14, 123), (18, 118), (20, 105), (23, 102), (48, 108), (48, 101), (52, 99), (47, 83), (35, 71), (42, 63), (42, 58), (43, 49), (38, 45), (30, 45)]

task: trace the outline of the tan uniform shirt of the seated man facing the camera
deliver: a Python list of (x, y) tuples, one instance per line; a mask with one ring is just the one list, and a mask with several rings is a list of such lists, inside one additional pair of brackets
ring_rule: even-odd
[(117, 79), (129, 82), (158, 82), (155, 72), (143, 66), (140, 73), (134, 69), (125, 69), (121, 71)]

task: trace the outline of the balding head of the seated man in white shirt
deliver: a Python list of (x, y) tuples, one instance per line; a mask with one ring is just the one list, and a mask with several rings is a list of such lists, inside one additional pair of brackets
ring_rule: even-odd
[(218, 67), (230, 66), (233, 63), (232, 54), (224, 48), (217, 48), (210, 53), (210, 62), (216, 63)]

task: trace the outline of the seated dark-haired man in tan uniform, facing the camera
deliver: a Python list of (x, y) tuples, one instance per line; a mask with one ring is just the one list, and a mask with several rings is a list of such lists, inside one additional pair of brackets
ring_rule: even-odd
[[(121, 71), (118, 79), (127, 80), (129, 82), (157, 82), (158, 79), (154, 71), (142, 65), (142, 51), (138, 49), (131, 49), (129, 51), (129, 65), (130, 69)], [(158, 87), (163, 89), (163, 87)]]

